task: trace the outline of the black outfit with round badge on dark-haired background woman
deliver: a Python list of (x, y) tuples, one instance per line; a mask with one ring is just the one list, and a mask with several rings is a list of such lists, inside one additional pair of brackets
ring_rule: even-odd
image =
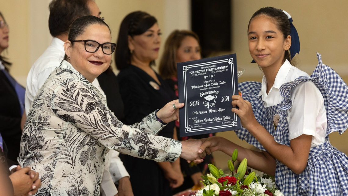
[[(142, 69), (129, 65), (122, 69), (117, 78), (125, 107), (125, 124), (132, 125), (144, 116), (162, 108), (175, 99), (174, 92), (157, 75), (161, 85)], [(108, 98), (107, 98), (108, 99)], [(173, 138), (174, 122), (168, 123), (159, 136)], [(144, 149), (146, 150), (146, 149)], [(132, 156), (120, 156), (130, 176), (133, 193), (138, 195), (170, 196), (173, 195), (169, 181), (162, 169), (153, 160), (139, 159)], [(146, 176), (146, 180), (139, 180)], [(149, 188), (156, 187), (156, 188)]]

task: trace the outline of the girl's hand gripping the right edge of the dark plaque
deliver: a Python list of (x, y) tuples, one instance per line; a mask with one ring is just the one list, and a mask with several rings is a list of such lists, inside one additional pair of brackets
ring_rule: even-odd
[(249, 130), (249, 127), (255, 125), (255, 123), (259, 124), (258, 121), (255, 119), (251, 103), (249, 101), (244, 100), (242, 96), (232, 96), (232, 106), (239, 107), (238, 109), (232, 108), (232, 112), (236, 113), (239, 116), (240, 122), (242, 123), (242, 126), (244, 128)]

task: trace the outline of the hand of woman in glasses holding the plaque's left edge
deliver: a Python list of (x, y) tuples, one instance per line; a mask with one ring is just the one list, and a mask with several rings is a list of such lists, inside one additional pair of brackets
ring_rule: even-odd
[[(175, 105), (175, 108), (174, 106)], [(167, 103), (159, 111), (157, 111), (157, 117), (161, 119), (164, 123), (172, 122), (173, 120), (179, 119), (179, 108), (184, 107), (184, 103), (179, 103), (179, 100), (176, 99)]]

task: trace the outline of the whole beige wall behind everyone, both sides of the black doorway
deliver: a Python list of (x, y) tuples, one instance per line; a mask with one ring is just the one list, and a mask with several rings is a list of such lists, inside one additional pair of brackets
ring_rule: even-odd
[[(50, 0), (0, 0), (0, 11), (10, 26), (10, 47), (3, 52), (11, 62), (11, 74), (23, 85), (32, 63), (50, 44), (48, 30), (48, 4)], [(296, 65), (308, 74), (317, 65), (316, 52), (323, 56), (323, 62), (335, 69), (342, 78), (348, 80), (348, 1), (346, 0), (231, 0), (232, 51), (237, 53), (238, 66), (246, 69), (240, 81), (261, 81), (259, 68), (250, 63), (247, 44), (247, 25), (252, 14), (261, 7), (272, 6), (290, 13), (298, 30), (301, 51)], [(96, 0), (102, 16), (110, 25), (112, 40), (116, 42), (122, 18), (128, 13), (143, 10), (154, 15), (163, 32), (162, 45), (174, 29), (190, 29), (189, 0)], [(207, 24), (209, 25), (209, 24)], [(219, 35), (216, 35), (219, 36)], [(112, 66), (114, 66), (112, 64)], [(156, 69), (156, 68), (155, 68)], [(218, 133), (243, 146), (233, 131)], [(330, 135), (331, 142), (341, 151), (348, 153), (348, 134)], [(226, 167), (229, 157), (215, 153), (218, 166)]]

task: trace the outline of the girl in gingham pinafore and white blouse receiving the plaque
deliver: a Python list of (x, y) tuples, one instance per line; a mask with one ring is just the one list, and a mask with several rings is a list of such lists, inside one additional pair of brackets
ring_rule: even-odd
[[(220, 150), (248, 166), (275, 175), (284, 195), (348, 195), (348, 157), (334, 148), (329, 134), (348, 125), (348, 88), (330, 67), (319, 64), (309, 76), (291, 65), (299, 39), (286, 12), (265, 7), (248, 25), (249, 51), (261, 67), (262, 83), (239, 84), (232, 96), (241, 120), (236, 134), (261, 152), (222, 137), (204, 139), (201, 150)], [(291, 52), (290, 52), (291, 51)]]

